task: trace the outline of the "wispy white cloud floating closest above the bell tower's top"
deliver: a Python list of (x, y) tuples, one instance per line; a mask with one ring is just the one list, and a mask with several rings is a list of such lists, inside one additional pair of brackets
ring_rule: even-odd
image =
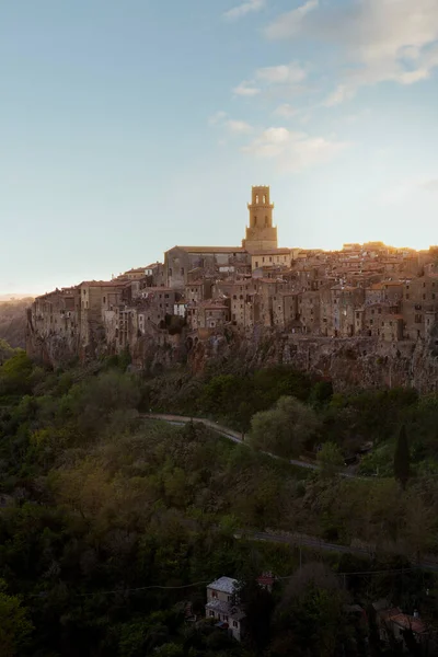
[(284, 172), (299, 172), (330, 162), (347, 146), (347, 142), (311, 137), (287, 128), (268, 128), (242, 151), (256, 158), (276, 159)]

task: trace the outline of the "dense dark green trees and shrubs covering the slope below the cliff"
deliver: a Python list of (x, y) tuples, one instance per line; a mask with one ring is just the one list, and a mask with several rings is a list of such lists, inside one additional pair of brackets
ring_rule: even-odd
[[(124, 358), (101, 365), (50, 372), (12, 350), (0, 367), (0, 655), (353, 656), (368, 654), (368, 630), (347, 602), (384, 596), (436, 620), (435, 576), (400, 576), (438, 552), (435, 397), (338, 395), (287, 368), (143, 379)], [(195, 422), (145, 420), (151, 407)], [(256, 449), (197, 415), (249, 433)], [(362, 469), (381, 476), (338, 476), (341, 454), (367, 440)], [(320, 443), (315, 472), (258, 451)], [(403, 486), (396, 446), (402, 476), (410, 461)], [(256, 530), (360, 540), (373, 555), (300, 553), (250, 540)], [(254, 585), (267, 569), (287, 578), (273, 595)], [(185, 622), (186, 603), (201, 616), (205, 584), (221, 575), (242, 583), (242, 645)]]

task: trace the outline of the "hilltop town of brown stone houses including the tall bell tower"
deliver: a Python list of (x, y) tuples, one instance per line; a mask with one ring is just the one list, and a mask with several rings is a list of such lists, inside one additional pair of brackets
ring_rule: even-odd
[(117, 353), (145, 335), (203, 339), (256, 325), (297, 336), (427, 339), (438, 313), (438, 249), (381, 242), (279, 249), (269, 187), (252, 188), (241, 246), (174, 246), (163, 263), (35, 299), (28, 331)]

